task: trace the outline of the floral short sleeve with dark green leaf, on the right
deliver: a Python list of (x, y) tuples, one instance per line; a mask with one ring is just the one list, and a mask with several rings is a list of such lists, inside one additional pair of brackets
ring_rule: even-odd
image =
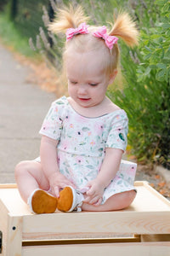
[(119, 148), (125, 151), (127, 148), (127, 132), (127, 114), (123, 110), (120, 110), (111, 121), (105, 148)]

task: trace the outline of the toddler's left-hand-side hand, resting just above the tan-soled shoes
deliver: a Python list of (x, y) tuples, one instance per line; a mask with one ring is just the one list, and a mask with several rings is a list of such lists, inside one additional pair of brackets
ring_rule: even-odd
[(51, 177), (49, 177), (49, 183), (52, 194), (58, 198), (60, 189), (64, 189), (66, 186), (71, 186), (76, 189), (75, 184), (71, 183), (71, 181), (60, 172), (55, 172)]

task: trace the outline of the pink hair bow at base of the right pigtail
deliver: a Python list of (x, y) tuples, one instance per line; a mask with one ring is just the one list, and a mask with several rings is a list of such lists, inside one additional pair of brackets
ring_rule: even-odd
[(93, 32), (94, 37), (103, 38), (105, 40), (105, 44), (109, 49), (113, 48), (113, 44), (116, 44), (118, 38), (115, 36), (109, 36), (106, 31), (106, 26), (101, 26), (96, 32)]

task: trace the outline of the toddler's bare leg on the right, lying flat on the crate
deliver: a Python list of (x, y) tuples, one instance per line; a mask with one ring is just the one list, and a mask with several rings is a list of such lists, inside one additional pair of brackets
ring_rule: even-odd
[(89, 212), (107, 212), (107, 211), (116, 211), (122, 210), (130, 206), (136, 196), (136, 192), (134, 190), (122, 192), (116, 195), (112, 195), (105, 204), (94, 206), (89, 205), (87, 203), (82, 204), (82, 211)]

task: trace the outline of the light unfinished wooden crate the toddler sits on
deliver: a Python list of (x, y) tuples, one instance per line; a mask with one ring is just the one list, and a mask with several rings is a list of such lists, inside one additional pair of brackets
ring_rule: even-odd
[(170, 202), (146, 182), (135, 186), (122, 211), (35, 215), (15, 184), (0, 184), (0, 255), (170, 255)]

